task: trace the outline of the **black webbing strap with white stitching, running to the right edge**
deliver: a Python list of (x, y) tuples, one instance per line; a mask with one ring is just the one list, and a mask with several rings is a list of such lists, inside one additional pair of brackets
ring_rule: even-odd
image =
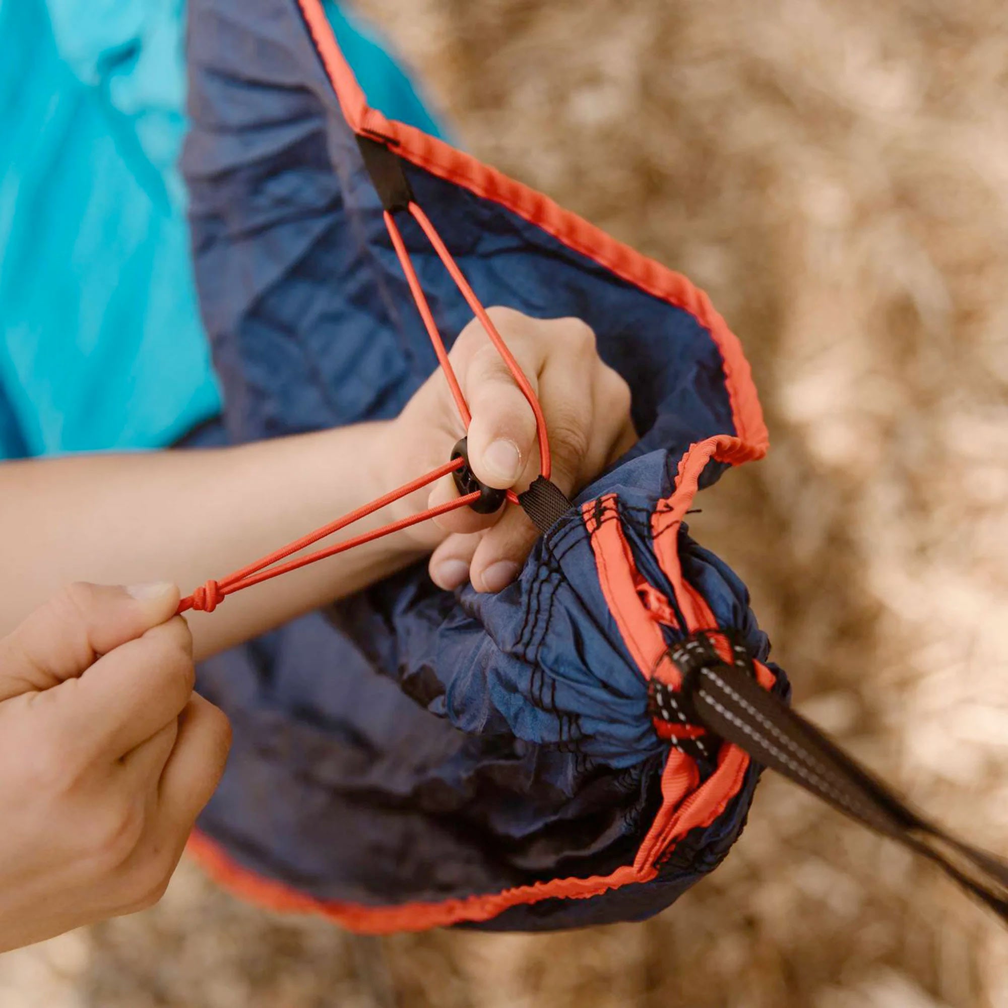
[(719, 658), (696, 662), (683, 672), (682, 703), (690, 720), (851, 818), (930, 859), (1008, 921), (1008, 863), (924, 820), (764, 689), (745, 663), (730, 665)]

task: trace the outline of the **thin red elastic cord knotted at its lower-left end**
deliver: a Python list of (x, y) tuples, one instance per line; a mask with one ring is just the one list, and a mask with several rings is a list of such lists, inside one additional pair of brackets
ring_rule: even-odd
[[(501, 339), (500, 333), (497, 332), (497, 328), (491, 322), (486, 309), (473, 292), (473, 288), (469, 285), (466, 277), (462, 273), (462, 270), (459, 269), (455, 259), (452, 258), (452, 254), (442, 241), (440, 235), (437, 234), (434, 226), (430, 223), (426, 214), (424, 214), (415, 203), (411, 203), (409, 205), (409, 212), (415, 218), (417, 224), (419, 224), (419, 226), (423, 229), (423, 233), (427, 236), (430, 244), (434, 247), (434, 251), (437, 253), (449, 273), (451, 273), (452, 278), (458, 285), (463, 297), (465, 297), (466, 301), (469, 303), (469, 306), (473, 309), (476, 318), (480, 320), (480, 323), (486, 330), (487, 336), (497, 348), (498, 353), (503, 358), (508, 370), (511, 372), (515, 382), (521, 389), (522, 394), (528, 401), (529, 406), (531, 406), (532, 412), (535, 415), (536, 434), (539, 442), (540, 471), (543, 478), (549, 479), (549, 443), (546, 438), (546, 425), (542, 415), (542, 408), (539, 406), (539, 400), (536, 398), (531, 384), (519, 367), (518, 362), (514, 359), (511, 351), (508, 350), (507, 344), (505, 344), (503, 339)], [(455, 399), (456, 406), (459, 409), (463, 425), (468, 429), (470, 421), (472, 420), (472, 415), (470, 414), (469, 406), (466, 403), (466, 397), (463, 395), (462, 387), (459, 385), (459, 379), (456, 377), (455, 369), (452, 367), (452, 362), (449, 360), (448, 351), (445, 349), (445, 341), (442, 339), (440, 333), (437, 331), (437, 325), (434, 323), (433, 314), (430, 311), (430, 305), (427, 303), (426, 296), (423, 293), (423, 288), (420, 286), (420, 281), (416, 276), (416, 271), (413, 269), (413, 264), (410, 261), (409, 253), (406, 251), (402, 235), (399, 233), (399, 229), (396, 226), (395, 221), (392, 219), (392, 215), (389, 214), (388, 211), (385, 211), (384, 217), (385, 226), (388, 228), (389, 236), (392, 239), (392, 247), (395, 249), (399, 262), (402, 264), (402, 271), (406, 275), (406, 282), (409, 284), (410, 293), (413, 295), (413, 300), (416, 302), (417, 310), (420, 312), (420, 318), (423, 320), (423, 325), (426, 328), (427, 335), (430, 337), (430, 343), (434, 348), (434, 353), (437, 355), (437, 362), (440, 364), (442, 371), (445, 373), (445, 377), (448, 380), (449, 388), (452, 391), (452, 397)], [(425, 511), (420, 511), (417, 514), (410, 515), (408, 518), (401, 518), (398, 521), (382, 525), (380, 528), (375, 528), (370, 532), (363, 532), (361, 535), (345, 539), (343, 542), (336, 543), (336, 545), (326, 546), (323, 549), (317, 549), (314, 552), (305, 553), (303, 556), (296, 556), (293, 559), (287, 560), (286, 563), (280, 562), (291, 554), (299, 552), (301, 549), (318, 542), (320, 539), (324, 539), (327, 536), (332, 535), (334, 532), (338, 532), (340, 529), (353, 524), (355, 521), (359, 521), (361, 518), (364, 518), (369, 514), (373, 514), (375, 511), (380, 510), (388, 504), (406, 497), (414, 490), (419, 490), (420, 487), (433, 483), (435, 480), (439, 480), (443, 476), (447, 476), (449, 473), (453, 473), (457, 469), (461, 469), (464, 465), (465, 462), (462, 459), (455, 459), (452, 462), (446, 463), (444, 466), (432, 470), (426, 475), (420, 476), (412, 482), (385, 494), (384, 497), (379, 497), (377, 500), (371, 501), (370, 504), (365, 504), (363, 507), (359, 507), (356, 511), (351, 511), (350, 514), (344, 515), (342, 518), (338, 518), (336, 521), (330, 522), (330, 524), (324, 525), (322, 528), (318, 528), (313, 532), (309, 532), (307, 535), (301, 536), (301, 538), (287, 543), (287, 545), (261, 557), (254, 563), (248, 564), (248, 566), (242, 568), (240, 571), (235, 571), (233, 574), (228, 575), (220, 581), (208, 581), (205, 585), (198, 588), (191, 596), (181, 600), (178, 604), (178, 612), (184, 613), (190, 609), (195, 609), (212, 613), (218, 605), (224, 601), (224, 599), (226, 599), (229, 595), (233, 595), (235, 592), (240, 592), (243, 588), (251, 588), (253, 585), (269, 581), (270, 578), (276, 578), (281, 574), (287, 574), (289, 571), (296, 571), (298, 568), (306, 566), (308, 563), (314, 563), (317, 560), (326, 559), (328, 556), (335, 556), (337, 553), (345, 552), (348, 549), (352, 549), (354, 546), (362, 545), (365, 542), (371, 542), (374, 539), (381, 538), (383, 535), (390, 535), (392, 532), (398, 532), (403, 528), (408, 528), (410, 525), (416, 525), (421, 521), (426, 521), (428, 518), (435, 518), (437, 515), (446, 514), (449, 511), (455, 511), (457, 508), (466, 507), (479, 498), (479, 492), (466, 494), (463, 497), (457, 497), (455, 500), (449, 501), (447, 504), (440, 504), (437, 507), (427, 508)], [(507, 492), (507, 497), (512, 504), (516, 504), (518, 502), (518, 498), (512, 490)]]

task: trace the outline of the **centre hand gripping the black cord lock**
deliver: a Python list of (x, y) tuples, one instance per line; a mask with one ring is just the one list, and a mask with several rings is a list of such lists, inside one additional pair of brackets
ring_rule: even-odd
[[(542, 406), (551, 479), (572, 496), (637, 440), (630, 389), (602, 362), (595, 334), (580, 320), (530, 319), (502, 307), (489, 313)], [(491, 487), (524, 490), (539, 474), (531, 407), (478, 321), (463, 330), (449, 357), (473, 414), (468, 449), (474, 474)], [(390, 464), (404, 476), (434, 469), (448, 462), (464, 433), (438, 369), (390, 425)], [(414, 495), (409, 506), (434, 506), (456, 496), (447, 477), (427, 501)], [(521, 508), (507, 505), (493, 515), (462, 508), (438, 518), (437, 525), (440, 531), (429, 522), (416, 525), (412, 534), (433, 548), (430, 577), (445, 589), (468, 580), (478, 591), (500, 591), (514, 580), (538, 535)]]

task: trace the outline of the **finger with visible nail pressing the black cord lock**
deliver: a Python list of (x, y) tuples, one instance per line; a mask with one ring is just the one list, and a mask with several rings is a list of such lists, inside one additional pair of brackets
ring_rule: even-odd
[[(536, 356), (523, 344), (516, 344), (512, 353), (535, 389)], [(535, 450), (532, 407), (492, 345), (473, 355), (464, 388), (473, 411), (467, 437), (474, 475), (500, 490), (514, 486)]]

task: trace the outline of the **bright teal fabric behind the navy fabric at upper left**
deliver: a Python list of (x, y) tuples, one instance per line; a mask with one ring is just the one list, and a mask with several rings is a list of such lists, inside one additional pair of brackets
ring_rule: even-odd
[[(372, 104), (414, 86), (335, 3)], [(184, 191), (182, 0), (0, 0), (0, 459), (171, 444), (221, 408)]]

